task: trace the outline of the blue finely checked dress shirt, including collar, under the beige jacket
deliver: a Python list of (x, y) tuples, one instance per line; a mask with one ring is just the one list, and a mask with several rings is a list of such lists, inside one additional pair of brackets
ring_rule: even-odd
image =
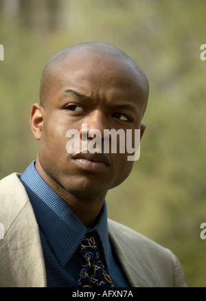
[[(76, 249), (88, 231), (76, 214), (38, 174), (35, 161), (27, 167), (21, 182), (25, 186), (39, 225), (47, 287), (77, 287), (81, 269)], [(106, 203), (93, 229), (98, 233), (108, 272), (115, 287), (128, 287), (108, 240)]]

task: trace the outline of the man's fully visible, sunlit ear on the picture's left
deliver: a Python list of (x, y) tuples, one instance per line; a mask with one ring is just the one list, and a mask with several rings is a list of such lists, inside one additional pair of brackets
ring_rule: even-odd
[(43, 130), (44, 113), (45, 110), (41, 106), (41, 104), (33, 104), (30, 116), (30, 126), (32, 129), (32, 133), (34, 134), (34, 138), (36, 140), (40, 140), (41, 138), (41, 132)]

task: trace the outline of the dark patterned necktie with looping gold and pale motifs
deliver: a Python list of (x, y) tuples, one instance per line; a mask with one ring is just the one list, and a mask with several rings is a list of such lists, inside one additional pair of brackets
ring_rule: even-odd
[(93, 233), (87, 233), (84, 236), (78, 251), (82, 262), (78, 285), (80, 287), (113, 287), (111, 277), (100, 259)]

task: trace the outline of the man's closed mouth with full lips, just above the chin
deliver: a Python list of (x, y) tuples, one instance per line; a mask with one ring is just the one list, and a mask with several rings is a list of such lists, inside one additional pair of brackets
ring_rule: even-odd
[(111, 165), (110, 160), (103, 153), (78, 153), (71, 157), (72, 161), (83, 170), (104, 172)]

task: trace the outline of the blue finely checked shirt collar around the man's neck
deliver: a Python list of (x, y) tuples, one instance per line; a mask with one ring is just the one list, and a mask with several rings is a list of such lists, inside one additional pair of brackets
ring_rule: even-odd
[(67, 265), (87, 231), (98, 232), (106, 264), (109, 264), (110, 252), (105, 201), (95, 227), (88, 230), (65, 201), (38, 174), (35, 161), (23, 172), (20, 180), (30, 198), (38, 225), (62, 267)]

